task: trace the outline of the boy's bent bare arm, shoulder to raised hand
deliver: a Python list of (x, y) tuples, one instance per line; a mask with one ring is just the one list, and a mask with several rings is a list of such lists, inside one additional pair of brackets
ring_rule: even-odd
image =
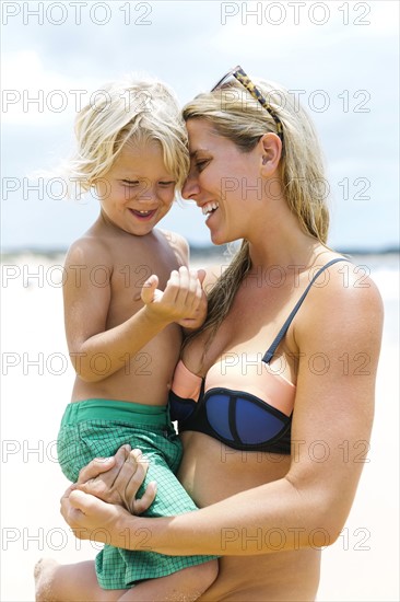
[[(102, 268), (106, 281), (94, 275)], [(199, 304), (199, 285), (187, 268), (173, 271), (164, 292), (156, 289), (158, 280), (151, 276), (142, 289), (145, 303), (129, 320), (106, 329), (110, 303), (113, 265), (102, 243), (81, 240), (72, 245), (66, 259), (63, 285), (67, 341), (77, 373), (85, 381), (104, 380), (126, 366), (126, 354), (134, 356), (144, 345), (172, 322), (191, 315)], [(104, 360), (102, 374), (92, 369), (94, 361)]]

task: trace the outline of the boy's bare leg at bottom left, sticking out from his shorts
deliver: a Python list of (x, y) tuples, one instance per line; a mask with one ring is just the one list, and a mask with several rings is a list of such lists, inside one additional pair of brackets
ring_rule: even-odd
[(127, 592), (103, 590), (93, 560), (59, 565), (51, 558), (35, 566), (35, 591), (36, 602), (116, 602)]

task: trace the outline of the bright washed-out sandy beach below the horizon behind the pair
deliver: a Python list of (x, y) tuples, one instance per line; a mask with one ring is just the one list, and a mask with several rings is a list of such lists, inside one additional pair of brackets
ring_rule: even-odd
[[(358, 261), (358, 259), (356, 259)], [(207, 259), (197, 263), (207, 264)], [(393, 256), (363, 257), (385, 302), (376, 417), (348, 523), (322, 555), (319, 602), (398, 601), (399, 269)], [(73, 370), (63, 333), (62, 256), (9, 256), (2, 266), (1, 601), (34, 600), (33, 568), (93, 558), (59, 514), (68, 486), (56, 437)], [(360, 449), (362, 456), (363, 449)]]

